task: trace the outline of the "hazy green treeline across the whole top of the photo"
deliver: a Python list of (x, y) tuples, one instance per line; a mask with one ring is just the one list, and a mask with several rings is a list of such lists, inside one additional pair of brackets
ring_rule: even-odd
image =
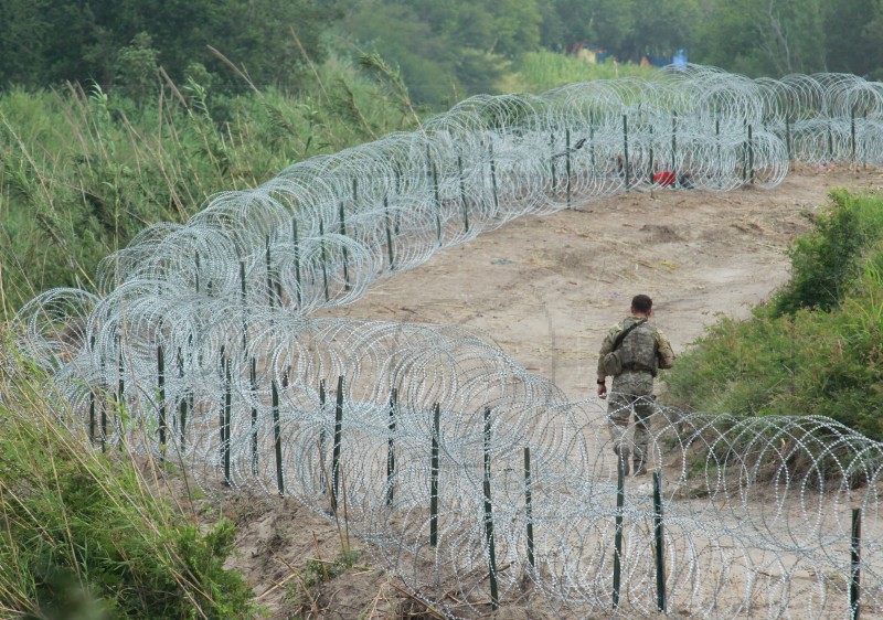
[[(379, 53), (436, 106), (511, 84), (525, 54), (579, 44), (749, 76), (883, 77), (881, 0), (0, 0), (0, 89), (157, 81), (296, 92), (329, 54)], [(161, 72), (159, 70), (162, 70)]]

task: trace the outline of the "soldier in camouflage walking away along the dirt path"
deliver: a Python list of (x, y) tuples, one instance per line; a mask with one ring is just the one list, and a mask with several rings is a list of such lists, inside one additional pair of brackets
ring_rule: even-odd
[(637, 295), (631, 300), (631, 316), (613, 327), (604, 339), (598, 356), (598, 397), (607, 397), (607, 375), (613, 375), (607, 405), (614, 452), (629, 472), (626, 438), (629, 416), (635, 411), (635, 475), (647, 473), (647, 445), (650, 416), (653, 413), (653, 377), (658, 368), (670, 368), (674, 353), (669, 339), (649, 322), (653, 300)]

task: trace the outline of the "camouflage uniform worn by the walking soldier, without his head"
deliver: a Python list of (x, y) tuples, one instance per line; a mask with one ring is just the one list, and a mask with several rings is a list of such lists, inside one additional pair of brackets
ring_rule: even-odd
[[(598, 377), (605, 376), (602, 361), (613, 351), (616, 336), (640, 321), (628, 317), (614, 325), (600, 348), (598, 356)], [(623, 372), (614, 377), (607, 405), (610, 438), (614, 449), (619, 452), (624, 447), (628, 450), (626, 429), (631, 413), (635, 413), (635, 442), (632, 456), (635, 462), (646, 462), (647, 446), (650, 439), (650, 416), (653, 414), (653, 377), (658, 368), (670, 368), (674, 363), (674, 353), (669, 339), (659, 328), (645, 322), (631, 330), (618, 348), (623, 355)]]

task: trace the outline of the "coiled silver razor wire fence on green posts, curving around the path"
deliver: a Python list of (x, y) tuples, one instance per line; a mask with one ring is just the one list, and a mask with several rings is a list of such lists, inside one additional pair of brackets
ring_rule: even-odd
[(634, 617), (663, 590), (692, 616), (851, 617), (858, 570), (879, 612), (880, 443), (823, 418), (657, 407), (655, 502), (641, 479), (620, 492), (605, 404), (568, 402), (487, 334), (310, 313), (514, 217), (655, 179), (730, 191), (774, 188), (792, 160), (879, 165), (881, 95), (851, 75), (691, 66), (472, 97), (146, 228), (100, 264), (97, 293), (28, 303), (19, 345), (96, 446), (342, 514), (450, 617), (528, 595)]

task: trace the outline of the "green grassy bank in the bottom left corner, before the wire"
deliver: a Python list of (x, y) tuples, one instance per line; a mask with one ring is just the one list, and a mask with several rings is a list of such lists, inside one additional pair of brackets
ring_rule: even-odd
[(256, 617), (251, 589), (222, 566), (233, 525), (201, 528), (161, 496), (156, 463), (89, 447), (64, 426), (46, 377), (2, 339), (0, 616)]

